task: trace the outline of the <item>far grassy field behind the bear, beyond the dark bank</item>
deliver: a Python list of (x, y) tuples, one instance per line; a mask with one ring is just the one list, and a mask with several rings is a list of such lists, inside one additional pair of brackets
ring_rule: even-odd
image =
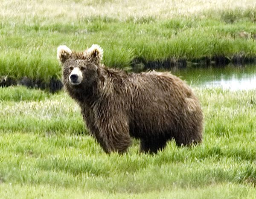
[(83, 50), (98, 43), (107, 66), (125, 69), (134, 58), (255, 57), (255, 8), (254, 0), (3, 0), (0, 75), (59, 77), (61, 44)]

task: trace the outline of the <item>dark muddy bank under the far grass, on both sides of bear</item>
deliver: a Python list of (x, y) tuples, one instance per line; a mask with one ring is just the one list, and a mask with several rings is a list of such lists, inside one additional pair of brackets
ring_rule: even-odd
[[(144, 58), (135, 58), (131, 62), (131, 68), (128, 70), (131, 72), (143, 72), (148, 70), (171, 70), (185, 69), (187, 67), (225, 67), (228, 64), (233, 63), (234, 65), (241, 66), (244, 64), (256, 63), (256, 57), (246, 57), (244, 55), (234, 55), (232, 58), (224, 55), (215, 55), (211, 58), (202, 57), (199, 59), (186, 60), (180, 59), (166, 59), (156, 61), (146, 61)], [(63, 88), (63, 84), (59, 78), (52, 77), (49, 82), (45, 82), (42, 79), (31, 79), (28, 77), (15, 78), (13, 76), (0, 76), (0, 87), (9, 87), (22, 85), (27, 88), (43, 89), (49, 92), (55, 93)]]

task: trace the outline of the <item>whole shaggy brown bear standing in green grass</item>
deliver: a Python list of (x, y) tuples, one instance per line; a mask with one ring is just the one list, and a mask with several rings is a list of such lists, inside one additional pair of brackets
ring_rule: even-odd
[(177, 146), (202, 141), (203, 112), (192, 89), (170, 72), (111, 69), (103, 49), (83, 52), (59, 46), (64, 89), (81, 107), (84, 122), (106, 153), (124, 153), (131, 137), (140, 151), (157, 153), (174, 139)]

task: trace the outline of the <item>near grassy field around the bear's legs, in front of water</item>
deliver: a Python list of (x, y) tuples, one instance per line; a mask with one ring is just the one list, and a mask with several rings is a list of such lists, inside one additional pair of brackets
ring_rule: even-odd
[(0, 88), (0, 198), (255, 198), (256, 90), (195, 89), (204, 141), (105, 154), (67, 94)]

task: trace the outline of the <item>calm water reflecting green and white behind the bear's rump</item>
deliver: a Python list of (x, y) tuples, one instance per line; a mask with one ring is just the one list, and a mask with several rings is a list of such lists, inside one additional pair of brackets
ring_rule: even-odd
[(230, 90), (256, 89), (256, 65), (225, 66), (222, 68), (187, 68), (173, 74), (195, 87), (220, 87)]

